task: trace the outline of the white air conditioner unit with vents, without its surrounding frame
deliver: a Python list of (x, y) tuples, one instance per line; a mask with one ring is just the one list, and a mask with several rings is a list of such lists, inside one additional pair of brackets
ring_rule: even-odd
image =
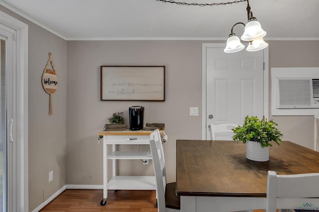
[(319, 78), (276, 78), (276, 108), (319, 108)]

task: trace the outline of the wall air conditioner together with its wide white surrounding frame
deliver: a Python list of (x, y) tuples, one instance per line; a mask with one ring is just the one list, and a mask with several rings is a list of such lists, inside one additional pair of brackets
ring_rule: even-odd
[(272, 115), (319, 113), (319, 67), (271, 69)]

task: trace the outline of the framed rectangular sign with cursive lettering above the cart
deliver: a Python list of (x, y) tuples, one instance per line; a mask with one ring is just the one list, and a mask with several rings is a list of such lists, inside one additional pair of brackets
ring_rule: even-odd
[(165, 101), (165, 66), (101, 66), (102, 101)]

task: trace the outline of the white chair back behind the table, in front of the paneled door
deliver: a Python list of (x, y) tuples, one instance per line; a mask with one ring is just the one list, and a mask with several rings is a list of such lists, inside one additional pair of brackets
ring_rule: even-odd
[(233, 140), (234, 132), (232, 128), (237, 127), (238, 124), (209, 124), (210, 139), (211, 140)]

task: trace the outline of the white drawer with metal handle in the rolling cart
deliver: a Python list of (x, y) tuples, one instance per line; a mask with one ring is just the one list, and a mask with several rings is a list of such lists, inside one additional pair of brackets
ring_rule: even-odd
[(107, 135), (107, 144), (150, 144), (150, 135)]

